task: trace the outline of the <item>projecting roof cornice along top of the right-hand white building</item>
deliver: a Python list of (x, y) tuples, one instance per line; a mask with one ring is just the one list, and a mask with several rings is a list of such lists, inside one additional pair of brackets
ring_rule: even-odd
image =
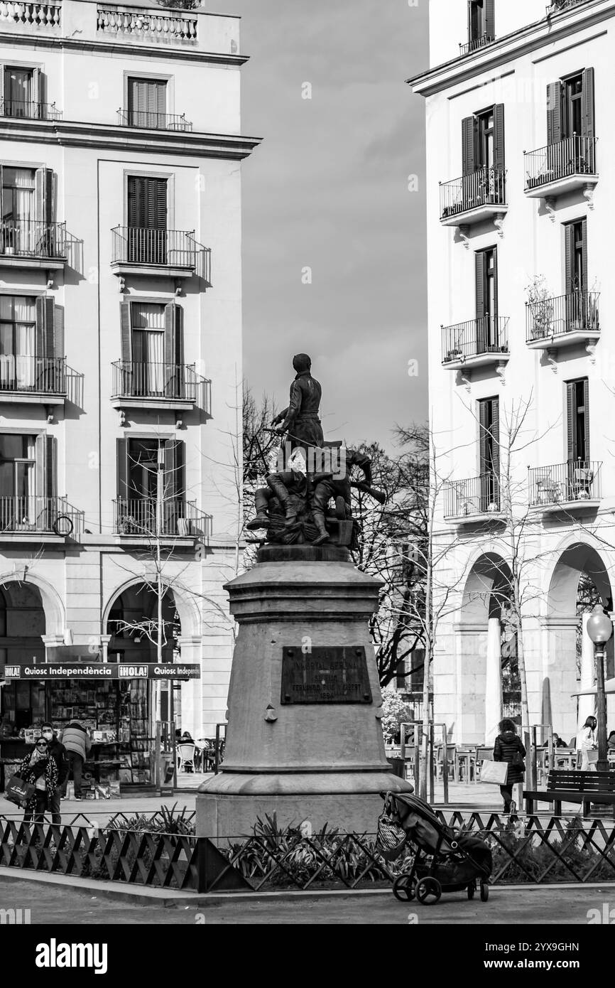
[(527, 25), (471, 55), (461, 55), (407, 79), (413, 92), (433, 96), (451, 86), (475, 76), (501, 68), (507, 62), (576, 35), (580, 30), (610, 20), (615, 16), (615, 0), (595, 0), (587, 6), (572, 7), (570, 11)]

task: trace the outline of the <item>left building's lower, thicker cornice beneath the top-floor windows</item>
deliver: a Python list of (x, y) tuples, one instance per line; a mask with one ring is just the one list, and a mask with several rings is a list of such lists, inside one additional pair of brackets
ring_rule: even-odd
[(5, 117), (0, 118), (0, 139), (237, 161), (252, 154), (263, 138), (186, 130), (144, 130), (140, 127), (77, 121), (12, 120)]

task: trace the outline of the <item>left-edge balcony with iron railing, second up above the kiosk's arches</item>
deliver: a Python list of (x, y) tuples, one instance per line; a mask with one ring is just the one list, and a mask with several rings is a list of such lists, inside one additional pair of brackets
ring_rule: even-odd
[(0, 400), (63, 405), (67, 394), (64, 357), (0, 355)]

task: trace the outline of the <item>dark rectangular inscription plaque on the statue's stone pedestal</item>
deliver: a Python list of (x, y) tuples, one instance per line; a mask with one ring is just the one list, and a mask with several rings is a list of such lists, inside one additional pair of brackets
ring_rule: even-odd
[(282, 649), (284, 703), (371, 703), (365, 649), (361, 645)]

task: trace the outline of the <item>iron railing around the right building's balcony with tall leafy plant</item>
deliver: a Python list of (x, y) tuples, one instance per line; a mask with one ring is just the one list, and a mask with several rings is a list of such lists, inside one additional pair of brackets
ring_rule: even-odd
[(577, 291), (525, 303), (527, 343), (567, 333), (599, 333), (599, 291)]

